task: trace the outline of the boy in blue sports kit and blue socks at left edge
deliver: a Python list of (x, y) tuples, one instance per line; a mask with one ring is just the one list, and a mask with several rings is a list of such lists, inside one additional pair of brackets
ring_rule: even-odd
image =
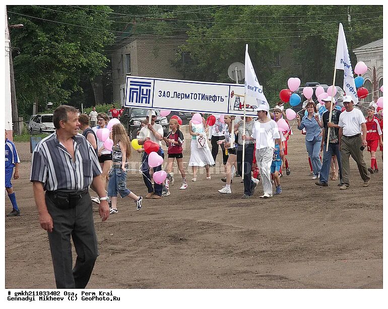
[(20, 210), (18, 208), (18, 204), (16, 203), (16, 197), (14, 189), (12, 188), (11, 178), (12, 173), (14, 171), (15, 167), (15, 173), (14, 173), (14, 179), (19, 178), (19, 163), (20, 159), (18, 156), (18, 152), (16, 151), (15, 144), (12, 143), (7, 138), (7, 131), (6, 131), (6, 191), (8, 193), (8, 197), (11, 200), (12, 203), (12, 211), (7, 214), (7, 217), (15, 217), (20, 216)]

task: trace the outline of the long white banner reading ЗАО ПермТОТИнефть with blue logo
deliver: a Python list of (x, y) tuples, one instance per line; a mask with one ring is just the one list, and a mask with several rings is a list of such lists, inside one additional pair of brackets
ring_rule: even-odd
[[(125, 106), (243, 115), (244, 85), (127, 76)], [(246, 115), (257, 115), (247, 97)]]

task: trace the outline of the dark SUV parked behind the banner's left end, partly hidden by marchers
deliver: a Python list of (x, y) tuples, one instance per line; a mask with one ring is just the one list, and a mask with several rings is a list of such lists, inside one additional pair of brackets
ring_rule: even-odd
[[(128, 136), (132, 141), (136, 138), (137, 132), (141, 129), (142, 120), (146, 119), (149, 109), (139, 107), (124, 107), (122, 115), (120, 116), (120, 122), (128, 132)], [(164, 136), (167, 136), (169, 132), (168, 120), (166, 117), (160, 116), (160, 111), (155, 109), (156, 120), (155, 122), (162, 126)]]

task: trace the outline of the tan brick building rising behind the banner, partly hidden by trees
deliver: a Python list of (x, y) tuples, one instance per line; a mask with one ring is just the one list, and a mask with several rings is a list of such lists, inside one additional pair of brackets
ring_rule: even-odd
[(173, 66), (185, 39), (130, 35), (116, 39), (111, 49), (113, 102), (124, 105), (127, 75), (182, 79)]

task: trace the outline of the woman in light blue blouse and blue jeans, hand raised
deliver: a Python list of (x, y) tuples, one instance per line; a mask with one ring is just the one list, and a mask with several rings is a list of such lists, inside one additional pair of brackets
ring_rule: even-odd
[(307, 115), (303, 116), (302, 121), (300, 120), (299, 114), (296, 115), (296, 119), (298, 120), (298, 129), (306, 130), (306, 149), (308, 156), (311, 159), (312, 170), (314, 173), (312, 179), (318, 179), (320, 168), (322, 167), (319, 159), (320, 143), (322, 141), (322, 134), (320, 131), (321, 120), (314, 102), (308, 102), (306, 109)]

